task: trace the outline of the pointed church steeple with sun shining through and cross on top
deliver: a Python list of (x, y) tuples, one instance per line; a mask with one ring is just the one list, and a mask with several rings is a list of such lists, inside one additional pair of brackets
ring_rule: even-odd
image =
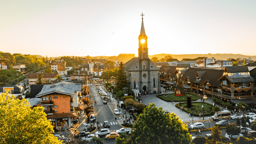
[(147, 59), (148, 58), (148, 42), (147, 42), (147, 35), (145, 32), (144, 28), (144, 23), (143, 23), (143, 13), (142, 13), (142, 22), (141, 22), (141, 28), (140, 28), (140, 35), (139, 35), (139, 48), (138, 48), (138, 53), (139, 53), (139, 58), (140, 59)]

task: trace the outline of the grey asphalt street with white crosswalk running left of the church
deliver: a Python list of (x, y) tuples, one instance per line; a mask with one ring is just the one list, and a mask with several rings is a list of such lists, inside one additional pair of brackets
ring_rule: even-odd
[[(107, 104), (103, 104), (103, 100), (101, 99), (101, 95), (99, 95), (99, 92), (96, 89), (96, 86), (92, 85), (90, 86), (90, 88), (91, 88), (91, 95), (94, 101), (97, 102), (97, 104), (94, 104), (94, 108), (96, 113), (96, 120), (99, 121), (100, 126), (99, 127), (97, 126), (96, 131), (99, 131), (104, 128), (103, 121), (108, 121), (110, 123), (110, 128), (108, 128), (110, 131), (118, 130), (122, 128), (119, 125), (119, 123), (115, 120), (115, 117), (118, 120), (120, 115), (114, 114), (114, 109), (115, 109), (114, 105), (111, 102), (108, 102)], [(95, 132), (93, 132), (92, 134), (94, 134)], [(107, 144), (114, 144), (116, 142), (115, 139), (106, 140), (105, 135), (100, 136), (100, 138), (102, 138), (103, 142)]]

